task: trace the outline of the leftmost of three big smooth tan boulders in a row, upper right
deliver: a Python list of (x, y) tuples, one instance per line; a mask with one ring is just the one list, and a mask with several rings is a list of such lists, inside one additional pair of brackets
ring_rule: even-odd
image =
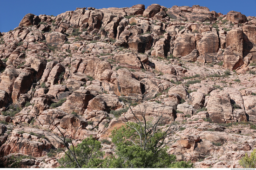
[(183, 57), (195, 49), (195, 37), (193, 34), (183, 33), (174, 41), (173, 56)]

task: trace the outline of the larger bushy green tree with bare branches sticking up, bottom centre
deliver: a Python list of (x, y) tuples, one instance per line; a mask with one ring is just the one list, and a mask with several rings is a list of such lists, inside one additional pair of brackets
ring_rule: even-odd
[(147, 108), (143, 105), (139, 113), (131, 112), (135, 122), (128, 122), (112, 131), (112, 142), (116, 146), (115, 155), (105, 159), (109, 168), (192, 168), (193, 163), (175, 162), (174, 155), (168, 155), (168, 136), (178, 131), (178, 124), (171, 124), (165, 130), (159, 128), (164, 121), (162, 111), (155, 120), (147, 121)]

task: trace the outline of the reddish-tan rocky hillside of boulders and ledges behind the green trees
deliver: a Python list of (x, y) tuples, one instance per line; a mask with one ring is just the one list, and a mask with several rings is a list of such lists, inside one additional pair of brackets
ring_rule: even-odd
[(21, 167), (55, 168), (63, 145), (54, 134), (110, 141), (134, 120), (131, 105), (149, 118), (161, 111), (161, 128), (182, 125), (168, 150), (178, 160), (241, 168), (256, 148), (254, 61), (256, 17), (235, 11), (139, 4), (28, 13), (0, 33), (0, 162), (14, 155)]

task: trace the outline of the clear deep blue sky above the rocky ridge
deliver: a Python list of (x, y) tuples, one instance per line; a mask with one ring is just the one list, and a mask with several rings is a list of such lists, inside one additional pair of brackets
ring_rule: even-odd
[(76, 7), (131, 7), (136, 4), (149, 5), (158, 3), (164, 7), (200, 5), (208, 7), (210, 11), (227, 14), (238, 11), (246, 16), (256, 16), (256, 0), (1, 0), (0, 32), (8, 32), (19, 26), (27, 13), (35, 15), (58, 15), (66, 11), (73, 11)]

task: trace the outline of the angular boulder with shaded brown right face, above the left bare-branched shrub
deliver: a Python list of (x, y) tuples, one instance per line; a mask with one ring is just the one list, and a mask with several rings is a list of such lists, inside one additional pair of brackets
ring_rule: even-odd
[(76, 112), (82, 115), (88, 106), (88, 102), (94, 98), (87, 90), (77, 90), (67, 97), (66, 102), (61, 106), (62, 111), (67, 113)]

